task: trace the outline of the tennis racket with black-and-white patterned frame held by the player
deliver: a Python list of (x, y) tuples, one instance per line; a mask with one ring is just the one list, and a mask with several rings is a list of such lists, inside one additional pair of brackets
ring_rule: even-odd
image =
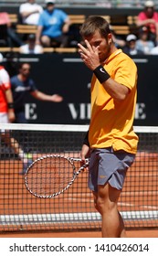
[(64, 155), (45, 155), (37, 158), (26, 170), (27, 190), (40, 198), (57, 197), (64, 193), (79, 173), (89, 165), (89, 159), (86, 159), (86, 164), (76, 171), (75, 162), (81, 163), (81, 160)]

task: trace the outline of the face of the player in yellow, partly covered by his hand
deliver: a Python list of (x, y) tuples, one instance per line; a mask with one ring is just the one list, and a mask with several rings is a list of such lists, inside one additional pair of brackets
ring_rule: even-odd
[(91, 47), (98, 48), (100, 63), (104, 62), (111, 55), (111, 34), (108, 39), (102, 37), (99, 31), (96, 31), (92, 36), (85, 37), (90, 43)]

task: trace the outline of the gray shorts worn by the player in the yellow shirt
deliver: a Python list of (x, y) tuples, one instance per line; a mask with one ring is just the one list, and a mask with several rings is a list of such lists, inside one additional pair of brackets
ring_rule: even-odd
[(135, 155), (125, 151), (113, 151), (112, 147), (94, 149), (90, 155), (89, 187), (97, 192), (98, 185), (107, 182), (111, 187), (121, 190), (127, 169), (132, 165)]

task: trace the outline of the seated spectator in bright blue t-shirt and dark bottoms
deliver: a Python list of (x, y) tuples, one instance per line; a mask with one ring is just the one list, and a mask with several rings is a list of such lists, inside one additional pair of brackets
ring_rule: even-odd
[(55, 0), (46, 0), (45, 3), (46, 10), (39, 16), (36, 43), (44, 47), (68, 47), (68, 15), (55, 8)]

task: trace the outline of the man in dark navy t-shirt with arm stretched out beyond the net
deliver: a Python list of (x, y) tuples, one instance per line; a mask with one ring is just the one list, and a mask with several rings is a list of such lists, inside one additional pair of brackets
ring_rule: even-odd
[(18, 74), (11, 78), (16, 123), (27, 123), (25, 117), (25, 100), (28, 92), (40, 101), (63, 101), (63, 98), (58, 94), (47, 95), (42, 91), (38, 91), (34, 80), (29, 77), (30, 69), (31, 67), (29, 63), (21, 63)]

